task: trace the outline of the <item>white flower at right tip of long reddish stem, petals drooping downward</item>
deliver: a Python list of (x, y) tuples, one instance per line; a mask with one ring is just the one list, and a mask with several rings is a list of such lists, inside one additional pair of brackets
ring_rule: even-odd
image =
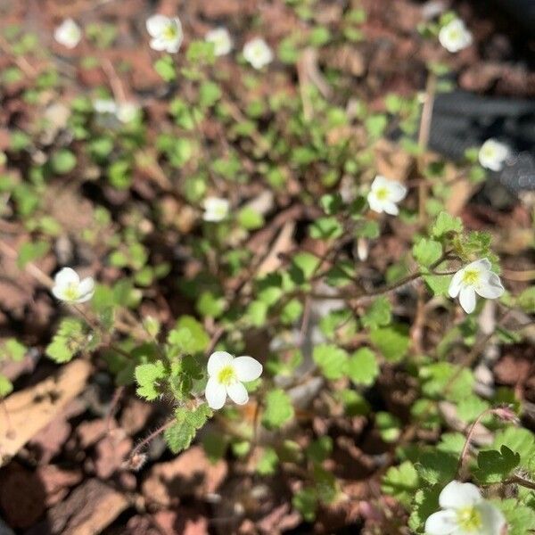
[(461, 307), (470, 314), (475, 309), (475, 294), (485, 299), (497, 299), (503, 292), (504, 287), (496, 273), (490, 271), (490, 261), (481, 259), (459, 269), (449, 284), (449, 296), (459, 296)]

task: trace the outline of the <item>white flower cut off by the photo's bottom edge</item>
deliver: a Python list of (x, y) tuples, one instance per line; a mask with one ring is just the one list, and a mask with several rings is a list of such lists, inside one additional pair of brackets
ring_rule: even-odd
[(443, 509), (425, 521), (427, 535), (500, 535), (506, 519), (472, 483), (449, 482), (440, 492)]

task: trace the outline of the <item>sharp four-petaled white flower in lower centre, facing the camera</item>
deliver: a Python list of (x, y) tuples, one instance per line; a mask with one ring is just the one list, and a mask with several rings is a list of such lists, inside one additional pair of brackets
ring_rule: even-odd
[(249, 401), (243, 383), (254, 381), (262, 374), (262, 365), (252, 357), (234, 358), (226, 351), (216, 351), (208, 359), (208, 383), (204, 395), (211, 408), (225, 405), (226, 395), (238, 405)]

